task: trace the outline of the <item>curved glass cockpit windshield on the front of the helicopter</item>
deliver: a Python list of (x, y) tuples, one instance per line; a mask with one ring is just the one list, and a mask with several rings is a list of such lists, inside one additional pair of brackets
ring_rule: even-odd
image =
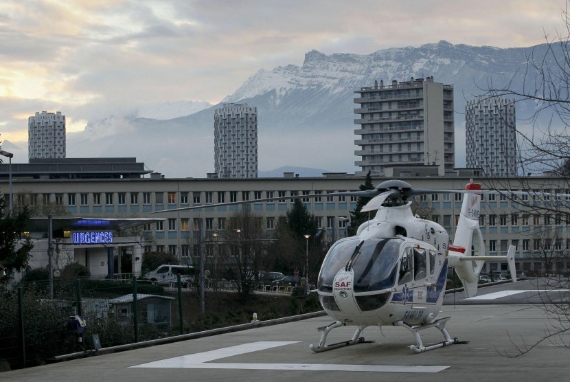
[(347, 238), (332, 247), (319, 275), (318, 289), (332, 292), (334, 277), (340, 269), (350, 267), (354, 272), (355, 293), (379, 291), (394, 287), (396, 264), (402, 238)]

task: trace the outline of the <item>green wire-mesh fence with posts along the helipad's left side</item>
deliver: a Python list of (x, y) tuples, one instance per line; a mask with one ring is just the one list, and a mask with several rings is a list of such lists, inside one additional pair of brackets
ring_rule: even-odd
[[(236, 282), (207, 279), (208, 309), (201, 314), (201, 293), (194, 283), (126, 281), (125, 277), (54, 279), (53, 288), (47, 281), (22, 282), (17, 289), (0, 293), (0, 363), (8, 363), (12, 369), (36, 366), (56, 355), (98, 346), (106, 348), (243, 324), (251, 320), (253, 312), (260, 319), (283, 317), (275, 313), (275, 307), (273, 311), (268, 307), (268, 313), (263, 313), (262, 305), (266, 303), (223, 311), (231, 305), (228, 301), (238, 299)], [(264, 284), (253, 287), (255, 292), (280, 295), (290, 295), (293, 290)], [(319, 310), (318, 302), (315, 307)], [(299, 313), (304, 312), (284, 315)]]

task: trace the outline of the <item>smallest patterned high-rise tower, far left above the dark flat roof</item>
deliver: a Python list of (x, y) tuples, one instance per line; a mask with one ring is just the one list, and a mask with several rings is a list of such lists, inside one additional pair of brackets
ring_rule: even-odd
[(42, 111), (27, 119), (27, 157), (65, 158), (65, 115)]

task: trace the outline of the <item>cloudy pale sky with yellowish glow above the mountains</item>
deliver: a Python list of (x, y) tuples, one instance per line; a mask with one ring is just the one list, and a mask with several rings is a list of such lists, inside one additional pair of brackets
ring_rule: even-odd
[[(0, 140), (27, 118), (67, 131), (133, 106), (216, 104), (259, 69), (304, 54), (452, 44), (528, 47), (567, 36), (565, 0), (2, 0)], [(26, 158), (14, 157), (15, 163)]]

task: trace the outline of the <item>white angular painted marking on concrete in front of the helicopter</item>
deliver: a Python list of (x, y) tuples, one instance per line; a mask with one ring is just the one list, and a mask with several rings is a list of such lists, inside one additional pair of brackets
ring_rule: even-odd
[(339, 365), (328, 363), (207, 363), (242, 355), (277, 348), (299, 341), (259, 341), (210, 350), (181, 357), (162, 359), (129, 366), (130, 368), (186, 368), (186, 369), (240, 369), (240, 370), (311, 370), (311, 371), (344, 371), (344, 372), (440, 372), (449, 366), (391, 366), (391, 365)]

